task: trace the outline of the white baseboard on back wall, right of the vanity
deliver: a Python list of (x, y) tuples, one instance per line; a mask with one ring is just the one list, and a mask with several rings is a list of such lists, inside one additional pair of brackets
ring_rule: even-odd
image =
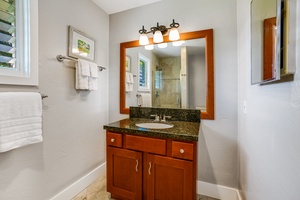
[(197, 193), (221, 200), (242, 200), (239, 190), (197, 181)]

